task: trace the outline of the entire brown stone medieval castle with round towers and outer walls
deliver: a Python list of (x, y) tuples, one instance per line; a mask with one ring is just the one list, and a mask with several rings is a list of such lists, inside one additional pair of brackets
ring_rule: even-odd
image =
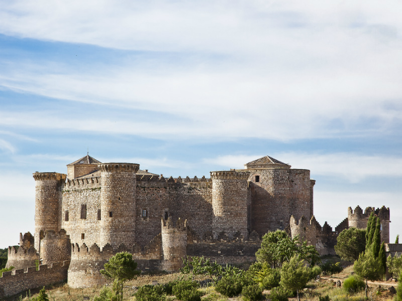
[[(62, 269), (71, 287), (100, 285), (106, 279), (99, 270), (123, 250), (142, 270), (178, 270), (186, 255), (219, 263), (253, 261), (262, 235), (276, 229), (331, 254), (338, 233), (365, 228), (373, 210), (381, 219), (383, 241), (389, 240), (385, 207), (364, 213), (349, 208), (335, 231), (327, 223), (321, 227), (314, 218), (310, 171), (269, 156), (242, 170), (211, 172), (211, 178), (164, 178), (139, 167), (87, 155), (68, 164), (67, 175), (34, 173), (35, 233), (20, 234), (18, 250), (9, 247), (7, 266), (16, 268), (15, 276), (39, 259), (39, 272), (54, 265), (53, 273)], [(6, 282), (3, 294), (10, 295), (15, 289)]]

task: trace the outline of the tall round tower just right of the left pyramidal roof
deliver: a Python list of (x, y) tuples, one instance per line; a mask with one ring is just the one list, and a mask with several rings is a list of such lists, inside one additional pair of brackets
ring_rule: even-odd
[(132, 163), (103, 163), (101, 172), (100, 245), (113, 247), (135, 243), (135, 188), (140, 166)]

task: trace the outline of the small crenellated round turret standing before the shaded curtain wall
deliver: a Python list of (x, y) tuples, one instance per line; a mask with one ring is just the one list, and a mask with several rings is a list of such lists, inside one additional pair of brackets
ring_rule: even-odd
[(170, 217), (166, 223), (162, 218), (162, 269), (168, 272), (178, 271), (187, 255), (187, 220), (178, 218), (176, 227)]

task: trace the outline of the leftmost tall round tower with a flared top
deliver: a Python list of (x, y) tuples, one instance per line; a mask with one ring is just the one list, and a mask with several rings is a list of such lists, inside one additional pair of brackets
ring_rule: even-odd
[(35, 249), (40, 252), (40, 240), (46, 230), (60, 229), (61, 190), (67, 175), (34, 173), (35, 179)]

